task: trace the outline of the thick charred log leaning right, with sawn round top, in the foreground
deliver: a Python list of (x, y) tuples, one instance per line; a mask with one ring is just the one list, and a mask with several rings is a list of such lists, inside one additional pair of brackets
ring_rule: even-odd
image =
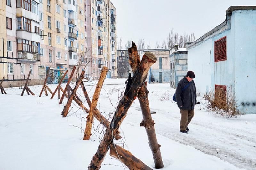
[(154, 54), (146, 52), (140, 62), (139, 67), (135, 71), (135, 74), (131, 78), (129, 75), (128, 82), (123, 98), (119, 101), (116, 108), (114, 117), (110, 123), (110, 128), (106, 129), (103, 139), (100, 142), (96, 154), (93, 156), (91, 163), (88, 167), (90, 170), (96, 170), (100, 168), (101, 163), (104, 160), (106, 153), (113, 142), (113, 136), (116, 135), (118, 129), (126, 117), (127, 111), (136, 99), (140, 86), (147, 78), (149, 68), (156, 63), (156, 57)]

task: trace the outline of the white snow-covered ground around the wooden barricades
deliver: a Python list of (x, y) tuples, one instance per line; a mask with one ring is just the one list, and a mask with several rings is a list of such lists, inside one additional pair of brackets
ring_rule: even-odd
[[(125, 79), (104, 82), (97, 107), (109, 120), (113, 115), (109, 113), (115, 111), (125, 88), (124, 82)], [(91, 99), (96, 83), (85, 83)], [(56, 85), (49, 87), (53, 91)], [(22, 90), (18, 87), (5, 88), (8, 95), (0, 94), (0, 170), (87, 169), (104, 128), (95, 120), (91, 140), (83, 141), (87, 114), (72, 104), (68, 117), (62, 118), (66, 99), (58, 105), (57, 94), (53, 100), (44, 93), (39, 98), (41, 88), (30, 86), (36, 96), (20, 96)], [(256, 114), (225, 119), (206, 112), (203, 104), (196, 105), (190, 132), (183, 134), (179, 132), (180, 111), (171, 100), (175, 90), (169, 84), (148, 84), (148, 90), (150, 109), (156, 111), (152, 118), (164, 169), (256, 169)], [(77, 93), (88, 107), (80, 88)], [(153, 168), (141, 120), (139, 101), (135, 100), (120, 129), (123, 138), (115, 143)], [(108, 152), (101, 169), (124, 167)]]

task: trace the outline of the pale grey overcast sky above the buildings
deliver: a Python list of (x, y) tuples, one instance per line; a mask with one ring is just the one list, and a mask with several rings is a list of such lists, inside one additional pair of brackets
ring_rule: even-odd
[(116, 7), (117, 40), (123, 47), (142, 37), (155, 48), (170, 29), (179, 34), (193, 32), (196, 39), (226, 18), (230, 6), (256, 6), (256, 0), (111, 0)]

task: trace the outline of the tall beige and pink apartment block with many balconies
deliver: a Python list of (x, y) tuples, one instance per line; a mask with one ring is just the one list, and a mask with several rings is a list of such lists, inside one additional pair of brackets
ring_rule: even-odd
[(48, 70), (57, 83), (57, 77), (70, 70), (68, 78), (74, 66), (76, 76), (85, 69), (94, 79), (107, 66), (111, 78), (116, 58), (111, 53), (116, 50), (116, 27), (111, 33), (114, 11), (108, 0), (1, 1), (0, 18), (6, 21), (0, 26), (3, 86), (19, 86), (29, 71), (32, 85), (42, 84)]

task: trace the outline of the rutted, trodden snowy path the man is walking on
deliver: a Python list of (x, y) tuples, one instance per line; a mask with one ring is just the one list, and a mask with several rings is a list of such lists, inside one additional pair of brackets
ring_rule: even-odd
[[(127, 116), (127, 120), (134, 125), (135, 115), (141, 119), (140, 108), (134, 106), (131, 108), (136, 111), (133, 112), (132, 119)], [(229, 124), (216, 126), (214, 122), (193, 119), (189, 125), (189, 134), (182, 134), (179, 132), (180, 115), (172, 115), (154, 108), (152, 110), (157, 112), (153, 117), (156, 122), (156, 133), (181, 144), (192, 146), (205, 154), (217, 156), (239, 168), (256, 168), (255, 131), (241, 130)]]

